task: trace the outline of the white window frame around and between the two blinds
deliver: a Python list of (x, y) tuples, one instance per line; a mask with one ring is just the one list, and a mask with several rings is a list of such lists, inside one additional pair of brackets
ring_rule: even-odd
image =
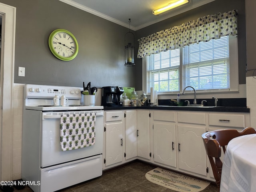
[[(230, 61), (230, 89), (229, 90), (196, 90), (197, 93), (231, 93), (239, 92), (239, 80), (238, 80), (238, 40), (237, 36), (229, 36), (229, 61)], [(148, 56), (146, 56), (148, 57)], [(142, 90), (147, 92), (147, 58), (142, 58)], [(180, 90), (176, 92), (159, 92), (159, 95), (176, 95), (181, 93), (183, 87), (183, 48), (180, 48)], [(147, 92), (146, 94), (149, 94)]]

